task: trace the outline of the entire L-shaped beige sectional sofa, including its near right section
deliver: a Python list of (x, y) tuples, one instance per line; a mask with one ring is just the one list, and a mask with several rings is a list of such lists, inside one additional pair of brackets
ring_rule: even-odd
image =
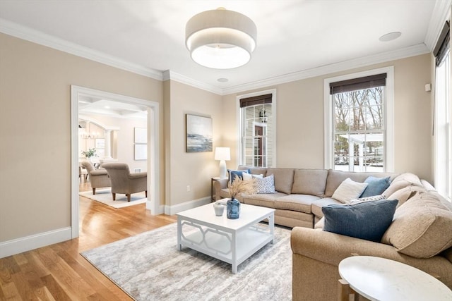
[[(239, 166), (238, 169), (248, 169)], [(411, 173), (350, 173), (296, 168), (249, 168), (275, 176), (278, 193), (242, 196), (241, 202), (275, 208), (275, 223), (292, 227), (292, 299), (337, 300), (338, 264), (355, 254), (403, 262), (432, 274), (452, 288), (452, 204), (432, 185)], [(321, 207), (346, 178), (391, 177), (383, 192), (398, 199), (391, 226), (380, 242), (323, 231)], [(215, 183), (215, 197), (228, 197), (226, 181)]]

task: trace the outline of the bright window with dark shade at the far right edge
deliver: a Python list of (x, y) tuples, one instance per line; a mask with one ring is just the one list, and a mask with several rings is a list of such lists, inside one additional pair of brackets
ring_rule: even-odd
[(452, 125), (450, 98), (450, 42), (446, 23), (433, 54), (435, 68), (434, 149), (435, 188), (441, 195), (452, 198)]

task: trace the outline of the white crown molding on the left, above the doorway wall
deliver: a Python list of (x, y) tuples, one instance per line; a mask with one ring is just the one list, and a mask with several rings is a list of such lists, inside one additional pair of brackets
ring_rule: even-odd
[(148, 78), (162, 80), (162, 72), (158, 70), (146, 68), (136, 63), (131, 63), (129, 61), (119, 59), (115, 56), (110, 56), (101, 51), (83, 47), (73, 42), (66, 41), (65, 39), (60, 39), (59, 37), (47, 35), (44, 32), (40, 32), (39, 30), (34, 30), (30, 27), (19, 25), (2, 18), (0, 18), (0, 32), (53, 49), (64, 51), (69, 54), (81, 56), (91, 61), (97, 61), (98, 63), (104, 63), (108, 66), (130, 71), (139, 75), (144, 75)]

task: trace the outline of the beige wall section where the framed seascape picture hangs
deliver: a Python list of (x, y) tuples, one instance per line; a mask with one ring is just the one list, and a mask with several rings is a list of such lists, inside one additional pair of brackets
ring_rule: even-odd
[[(210, 178), (218, 176), (219, 162), (214, 160), (214, 152), (185, 152), (185, 115), (212, 118), (215, 150), (222, 146), (221, 102), (222, 98), (217, 94), (180, 82), (165, 82), (166, 171), (167, 182), (171, 183), (166, 190), (167, 205), (210, 196)], [(187, 185), (190, 185), (189, 192)]]

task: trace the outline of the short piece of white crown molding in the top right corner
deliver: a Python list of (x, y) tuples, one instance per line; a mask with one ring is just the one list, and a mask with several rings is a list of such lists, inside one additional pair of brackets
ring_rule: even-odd
[(430, 51), (433, 51), (444, 23), (450, 18), (451, 0), (436, 1), (430, 18), (429, 29), (425, 36), (425, 44)]

